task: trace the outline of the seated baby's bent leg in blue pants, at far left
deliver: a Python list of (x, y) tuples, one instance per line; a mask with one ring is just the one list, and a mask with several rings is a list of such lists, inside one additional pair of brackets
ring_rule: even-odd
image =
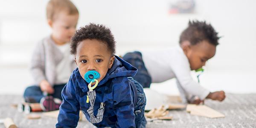
[(44, 97), (43, 92), (39, 86), (27, 87), (24, 91), (25, 102), (40, 102), (41, 98)]

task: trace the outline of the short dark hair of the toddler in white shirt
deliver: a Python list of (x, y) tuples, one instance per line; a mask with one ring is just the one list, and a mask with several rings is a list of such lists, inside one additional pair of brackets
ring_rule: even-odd
[(211, 24), (207, 24), (205, 21), (189, 20), (189, 26), (181, 33), (179, 43), (182, 44), (183, 41), (189, 41), (191, 45), (195, 45), (206, 40), (210, 44), (217, 46), (219, 38), (218, 32), (215, 31)]

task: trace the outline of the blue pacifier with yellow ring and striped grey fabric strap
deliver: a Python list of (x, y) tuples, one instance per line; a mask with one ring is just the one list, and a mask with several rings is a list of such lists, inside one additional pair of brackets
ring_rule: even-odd
[[(96, 71), (88, 71), (87, 73), (84, 74), (84, 79), (88, 84), (88, 88), (89, 91), (87, 92), (87, 100), (86, 102), (89, 103), (90, 102), (90, 108), (87, 110), (87, 112), (90, 115), (90, 122), (91, 123), (99, 123), (102, 122), (103, 119), (103, 114), (104, 114), (104, 106), (105, 103), (101, 102), (100, 104), (100, 108), (98, 110), (98, 113), (96, 115), (96, 117), (93, 115), (93, 108), (94, 108), (94, 103), (95, 103), (95, 99), (96, 99), (96, 91), (93, 90), (97, 87), (97, 85), (99, 84), (99, 81), (97, 79), (99, 79), (99, 73)], [(96, 82), (93, 87), (92, 87), (92, 83)]]

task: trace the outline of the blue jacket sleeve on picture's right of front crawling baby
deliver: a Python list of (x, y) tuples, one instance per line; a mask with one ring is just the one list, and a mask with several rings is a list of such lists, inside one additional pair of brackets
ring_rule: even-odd
[(113, 81), (114, 112), (117, 128), (135, 128), (135, 114), (131, 86), (128, 78), (119, 77)]

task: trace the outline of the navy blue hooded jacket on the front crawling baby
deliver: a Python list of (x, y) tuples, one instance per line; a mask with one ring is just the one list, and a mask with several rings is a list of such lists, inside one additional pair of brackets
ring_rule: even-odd
[[(115, 56), (113, 66), (94, 89), (96, 90), (94, 116), (97, 115), (101, 102), (105, 102), (105, 112), (102, 122), (93, 125), (96, 127), (135, 128), (134, 106), (137, 90), (132, 86), (134, 80), (128, 77), (135, 76), (136, 73), (135, 67)], [(63, 126), (75, 128), (79, 121), (80, 108), (90, 122), (90, 116), (87, 113), (90, 102), (86, 103), (87, 91), (87, 82), (76, 68), (61, 93), (63, 101), (58, 115), (57, 128)]]

